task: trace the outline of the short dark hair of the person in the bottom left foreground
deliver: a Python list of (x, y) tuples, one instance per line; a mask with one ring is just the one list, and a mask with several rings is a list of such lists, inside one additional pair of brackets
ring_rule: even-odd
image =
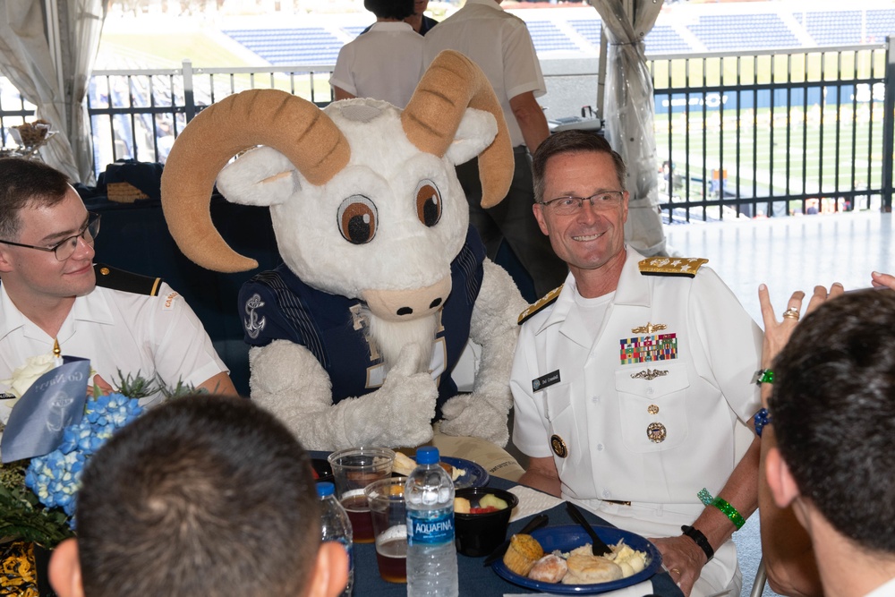
[(311, 461), (242, 398), (158, 406), (109, 439), (82, 478), (85, 594), (303, 594), (320, 544)]

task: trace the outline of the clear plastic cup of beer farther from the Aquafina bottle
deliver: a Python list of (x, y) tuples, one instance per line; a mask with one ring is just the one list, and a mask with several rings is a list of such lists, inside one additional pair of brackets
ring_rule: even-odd
[(328, 456), (336, 494), (351, 519), (355, 543), (373, 542), (370, 507), (363, 490), (371, 482), (391, 477), (395, 452), (388, 448), (346, 448)]

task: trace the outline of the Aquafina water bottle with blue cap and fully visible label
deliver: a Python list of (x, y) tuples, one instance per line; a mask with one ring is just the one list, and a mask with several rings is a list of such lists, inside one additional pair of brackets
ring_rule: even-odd
[(407, 477), (407, 595), (456, 597), (454, 482), (439, 466), (438, 448), (416, 450)]

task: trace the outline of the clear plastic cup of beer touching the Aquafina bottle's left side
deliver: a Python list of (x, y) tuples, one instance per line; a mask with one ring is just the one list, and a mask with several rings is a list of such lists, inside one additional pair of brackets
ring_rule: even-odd
[(405, 477), (372, 482), (364, 490), (376, 536), (379, 576), (389, 583), (407, 582), (407, 512)]

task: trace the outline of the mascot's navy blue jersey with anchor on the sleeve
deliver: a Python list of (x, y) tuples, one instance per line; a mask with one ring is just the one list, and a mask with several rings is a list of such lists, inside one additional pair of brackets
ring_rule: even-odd
[[(432, 376), (438, 381), (441, 406), (456, 396), (451, 378), (469, 337), (473, 305), (482, 287), (485, 248), (470, 226), (463, 248), (451, 262), (452, 290), (440, 311), (434, 338)], [(360, 316), (362, 302), (321, 292), (307, 286), (286, 265), (251, 277), (239, 294), (245, 341), (265, 346), (274, 340), (303, 345), (317, 358), (332, 382), (333, 404), (359, 397), (377, 388), (384, 379), (382, 360), (371, 351)]]

